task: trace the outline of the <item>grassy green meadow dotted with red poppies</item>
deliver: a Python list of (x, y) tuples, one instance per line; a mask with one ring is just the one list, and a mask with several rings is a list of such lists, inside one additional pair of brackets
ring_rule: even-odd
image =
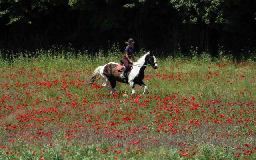
[(0, 159), (256, 157), (253, 61), (157, 57), (159, 68), (145, 70), (148, 93), (135, 86), (125, 97), (126, 84), (114, 94), (102, 78), (84, 85), (120, 56), (37, 52), (0, 60)]

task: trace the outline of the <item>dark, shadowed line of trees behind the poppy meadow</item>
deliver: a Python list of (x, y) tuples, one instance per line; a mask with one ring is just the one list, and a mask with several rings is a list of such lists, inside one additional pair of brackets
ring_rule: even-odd
[(256, 0), (0, 0), (0, 48), (71, 43), (88, 50), (134, 38), (135, 48), (239, 56), (255, 50)]

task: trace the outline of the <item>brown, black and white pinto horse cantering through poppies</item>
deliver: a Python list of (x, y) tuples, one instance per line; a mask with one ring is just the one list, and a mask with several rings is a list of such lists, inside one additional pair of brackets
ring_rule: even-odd
[[(145, 76), (144, 71), (146, 69), (146, 66), (152, 66), (154, 69), (158, 68), (156, 57), (154, 56), (152, 51), (149, 51), (146, 54), (144, 54), (144, 56), (139, 58), (139, 60), (133, 64), (132, 70), (129, 70), (127, 72), (127, 78), (124, 76), (124, 72), (120, 72), (117, 69), (118, 65), (120, 64), (115, 62), (110, 62), (108, 64), (105, 64), (104, 66), (99, 66), (94, 70), (94, 72), (92, 73), (92, 76), (90, 77), (90, 80), (86, 83), (86, 85), (93, 84), (96, 80), (100, 78), (100, 76), (102, 76), (103, 78), (105, 78), (102, 86), (107, 88), (110, 91), (110, 93), (113, 93), (116, 91), (115, 90), (116, 81), (118, 81), (118, 82), (127, 83), (130, 85), (132, 89), (131, 95), (135, 94), (135, 90), (134, 90), (135, 84), (138, 84), (144, 87), (143, 94), (145, 94), (148, 88), (142, 80)], [(108, 82), (110, 82), (111, 88), (107, 86)]]

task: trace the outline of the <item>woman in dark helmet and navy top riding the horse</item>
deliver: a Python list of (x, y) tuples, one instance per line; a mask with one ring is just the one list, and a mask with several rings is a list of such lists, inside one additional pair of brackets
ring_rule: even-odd
[(133, 45), (134, 45), (134, 40), (132, 38), (130, 38), (128, 40), (128, 42), (125, 42), (125, 44), (127, 44), (128, 46), (125, 48), (125, 55), (124, 55), (124, 58), (123, 58), (123, 63), (124, 63), (124, 66), (125, 66), (125, 70), (124, 70), (124, 77), (126, 77), (126, 74), (128, 72), (128, 66), (129, 64), (133, 64), (134, 62), (131, 61), (131, 58), (132, 60), (135, 60), (134, 58), (134, 51), (133, 51)]

